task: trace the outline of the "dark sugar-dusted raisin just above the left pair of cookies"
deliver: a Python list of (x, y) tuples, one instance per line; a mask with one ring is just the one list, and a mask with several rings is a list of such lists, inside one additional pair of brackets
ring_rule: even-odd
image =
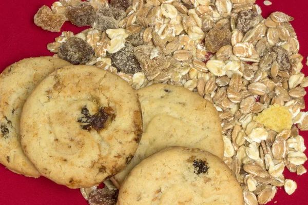
[(59, 48), (59, 57), (71, 64), (85, 64), (93, 56), (94, 49), (83, 39), (71, 37)]

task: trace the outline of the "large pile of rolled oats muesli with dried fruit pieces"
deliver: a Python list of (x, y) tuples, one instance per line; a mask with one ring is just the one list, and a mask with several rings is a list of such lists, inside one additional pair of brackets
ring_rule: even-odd
[(213, 103), (224, 161), (241, 183), (246, 204), (271, 201), (277, 187), (295, 191), (296, 183), (282, 173), (285, 167), (306, 173), (298, 128), (308, 130), (308, 113), (300, 111), (308, 77), (300, 72), (293, 17), (274, 12), (263, 18), (255, 0), (62, 0), (52, 11), (66, 18), (83, 13), (67, 19), (92, 26), (55, 38), (47, 46), (59, 52), (55, 57), (70, 57), (62, 50), (70, 38), (81, 38), (92, 50), (74, 51), (80, 56), (74, 64), (113, 72), (134, 89), (183, 86)]

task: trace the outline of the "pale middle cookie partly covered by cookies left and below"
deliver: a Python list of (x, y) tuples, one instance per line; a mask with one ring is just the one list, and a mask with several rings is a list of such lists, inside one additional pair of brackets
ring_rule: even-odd
[(199, 148), (223, 157), (220, 119), (208, 101), (183, 87), (166, 84), (139, 89), (137, 94), (143, 135), (130, 164), (111, 178), (117, 188), (142, 159), (169, 146)]

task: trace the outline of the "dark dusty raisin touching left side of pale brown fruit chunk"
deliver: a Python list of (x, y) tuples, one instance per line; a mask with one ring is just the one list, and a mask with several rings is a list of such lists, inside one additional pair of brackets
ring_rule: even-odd
[(138, 60), (133, 55), (133, 46), (125, 43), (120, 51), (111, 54), (112, 66), (124, 73), (137, 73), (141, 71)]

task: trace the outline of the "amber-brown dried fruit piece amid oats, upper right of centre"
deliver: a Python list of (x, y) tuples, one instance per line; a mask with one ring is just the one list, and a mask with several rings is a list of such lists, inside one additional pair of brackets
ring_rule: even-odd
[(216, 53), (221, 47), (231, 45), (232, 33), (228, 29), (212, 29), (205, 37), (207, 51)]

